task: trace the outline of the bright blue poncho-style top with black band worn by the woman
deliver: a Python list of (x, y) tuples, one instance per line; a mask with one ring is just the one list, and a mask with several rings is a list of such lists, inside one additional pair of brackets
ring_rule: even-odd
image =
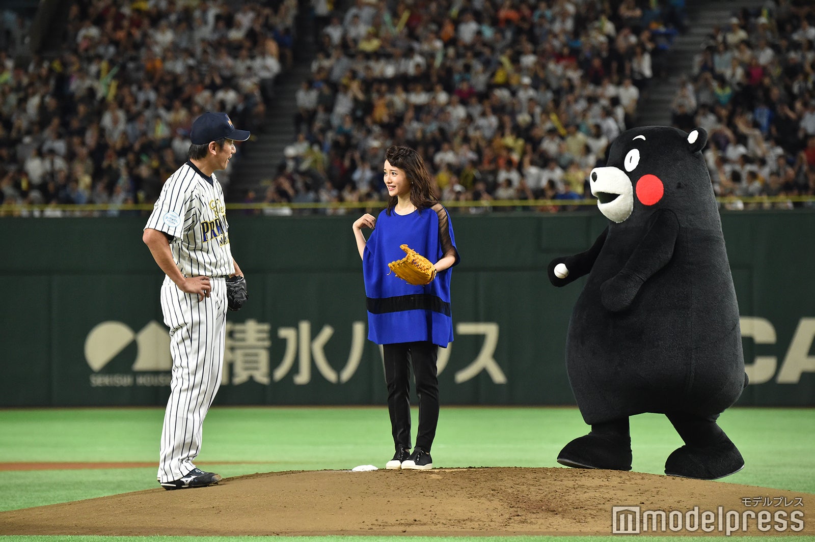
[(447, 347), (453, 340), (452, 267), (437, 273), (427, 286), (407, 284), (388, 269), (390, 262), (405, 256), (402, 244), (433, 264), (451, 250), (459, 262), (452, 222), (440, 203), (408, 215), (380, 212), (363, 252), (368, 339), (377, 344), (429, 340)]

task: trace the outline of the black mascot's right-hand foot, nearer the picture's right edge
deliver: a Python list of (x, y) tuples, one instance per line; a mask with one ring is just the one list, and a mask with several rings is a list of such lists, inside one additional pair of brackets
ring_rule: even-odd
[(715, 480), (737, 473), (744, 468), (744, 459), (735, 444), (725, 436), (710, 446), (682, 446), (665, 461), (665, 474)]

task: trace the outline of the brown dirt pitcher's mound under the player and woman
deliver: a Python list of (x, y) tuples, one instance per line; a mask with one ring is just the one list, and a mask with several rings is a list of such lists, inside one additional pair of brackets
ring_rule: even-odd
[[(722, 528), (738, 522), (734, 535), (769, 535), (777, 518), (811, 514), (815, 495), (609, 470), (289, 471), (0, 512), (0, 535), (608, 535), (614, 505), (681, 511), (667, 516), (681, 530), (667, 520), (655, 534), (704, 534), (685, 528), (698, 507)], [(786, 531), (815, 536), (815, 518), (802, 519), (803, 531)], [(706, 526), (724, 534), (717, 519)]]

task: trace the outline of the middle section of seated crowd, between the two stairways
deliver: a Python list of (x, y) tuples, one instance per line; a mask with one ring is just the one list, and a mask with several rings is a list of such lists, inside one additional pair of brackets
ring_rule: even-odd
[[(583, 199), (684, 26), (681, 1), (367, 2), (324, 13), (265, 202), (381, 199), (391, 144), (450, 200)], [(319, 2), (318, 2), (319, 4)]]

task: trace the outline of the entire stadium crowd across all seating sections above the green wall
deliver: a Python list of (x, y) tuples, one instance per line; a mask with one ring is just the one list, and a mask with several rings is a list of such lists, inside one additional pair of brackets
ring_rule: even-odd
[[(381, 201), (392, 144), (416, 148), (438, 197), (471, 209), (589, 197), (588, 172), (668, 75), (684, 3), (311, 0), (317, 53), (296, 94), (297, 140), (244, 201)], [(815, 9), (798, 6), (734, 13), (679, 85), (673, 124), (710, 133), (717, 195), (815, 195)], [(78, 0), (62, 54), (21, 63), (0, 49), (0, 204), (152, 203), (201, 112), (275, 129), (263, 119), (293, 64), (297, 11)], [(225, 188), (232, 168), (218, 174)]]

